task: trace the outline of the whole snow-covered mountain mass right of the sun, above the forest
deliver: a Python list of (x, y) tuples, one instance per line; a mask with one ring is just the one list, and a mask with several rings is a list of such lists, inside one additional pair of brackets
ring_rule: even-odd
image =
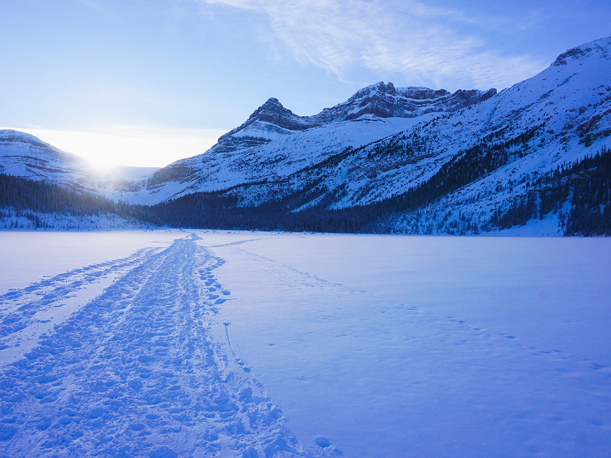
[[(420, 189), (417, 203), (395, 206), (378, 228), (486, 230), (537, 177), (611, 146), (610, 56), (611, 37), (601, 38), (500, 93), (380, 82), (309, 117), (270, 98), (203, 154), (139, 181), (92, 186), (130, 203), (214, 192), (238, 206), (282, 201), (291, 212), (414, 200)], [(60, 175), (77, 180), (74, 167), (63, 167)], [(28, 170), (53, 177), (44, 167)], [(558, 216), (541, 217), (539, 227), (558, 233)]]

